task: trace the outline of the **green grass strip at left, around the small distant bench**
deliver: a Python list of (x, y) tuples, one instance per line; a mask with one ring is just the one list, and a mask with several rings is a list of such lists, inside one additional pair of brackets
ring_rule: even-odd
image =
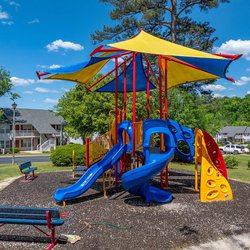
[[(61, 171), (61, 170), (71, 170), (72, 167), (55, 167), (53, 166), (52, 162), (37, 162), (32, 163), (33, 166), (36, 166), (38, 170), (37, 173), (44, 173), (44, 172), (55, 172), (55, 171)], [(9, 178), (14, 177), (17, 175), (21, 175), (21, 172), (18, 168), (18, 165), (12, 165), (12, 164), (0, 164), (0, 181)]]

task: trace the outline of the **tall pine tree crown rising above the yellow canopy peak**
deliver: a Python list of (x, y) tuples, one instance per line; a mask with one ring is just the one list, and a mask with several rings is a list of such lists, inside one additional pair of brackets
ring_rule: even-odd
[(208, 22), (197, 22), (190, 16), (195, 7), (207, 12), (229, 0), (100, 0), (113, 6), (113, 27), (92, 34), (94, 43), (104, 40), (119, 41), (131, 37), (139, 28), (172, 42), (196, 49), (209, 50), (216, 38)]

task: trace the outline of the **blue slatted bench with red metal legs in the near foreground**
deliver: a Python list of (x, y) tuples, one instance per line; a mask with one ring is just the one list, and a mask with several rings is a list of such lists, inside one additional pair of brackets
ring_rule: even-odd
[[(0, 206), (0, 227), (5, 224), (32, 225), (34, 228), (50, 237), (51, 244), (47, 248), (52, 249), (56, 245), (55, 227), (64, 223), (60, 219), (57, 208), (33, 208), (33, 207), (2, 207)], [(43, 231), (38, 226), (47, 226), (51, 233)]]

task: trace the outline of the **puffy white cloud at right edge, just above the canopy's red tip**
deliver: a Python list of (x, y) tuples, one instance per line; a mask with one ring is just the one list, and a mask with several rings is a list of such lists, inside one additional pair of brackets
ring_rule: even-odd
[(215, 50), (221, 54), (243, 54), (248, 61), (250, 60), (250, 40), (229, 40)]

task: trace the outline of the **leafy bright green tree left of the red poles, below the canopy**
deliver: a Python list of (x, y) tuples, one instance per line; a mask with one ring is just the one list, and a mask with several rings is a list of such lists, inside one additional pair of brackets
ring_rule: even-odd
[[(102, 75), (99, 74), (94, 80)], [(102, 84), (109, 81), (108, 77)], [(114, 94), (89, 92), (77, 84), (59, 100), (56, 110), (67, 122), (65, 131), (72, 137), (101, 134), (108, 131), (108, 119), (114, 110)]]

